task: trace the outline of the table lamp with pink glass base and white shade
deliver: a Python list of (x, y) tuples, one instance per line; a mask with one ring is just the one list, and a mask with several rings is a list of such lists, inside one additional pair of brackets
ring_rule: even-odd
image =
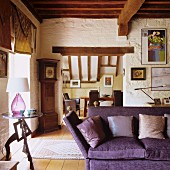
[(6, 92), (15, 92), (16, 96), (11, 104), (11, 111), (14, 115), (24, 113), (26, 109), (25, 102), (19, 92), (28, 92), (29, 85), (27, 78), (9, 78)]

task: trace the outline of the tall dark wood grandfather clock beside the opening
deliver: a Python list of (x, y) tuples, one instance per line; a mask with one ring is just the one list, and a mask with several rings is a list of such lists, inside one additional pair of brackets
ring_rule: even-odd
[(50, 132), (59, 129), (58, 114), (55, 112), (55, 83), (57, 81), (57, 63), (59, 60), (38, 59), (39, 81), (41, 83), (41, 112), (39, 131)]

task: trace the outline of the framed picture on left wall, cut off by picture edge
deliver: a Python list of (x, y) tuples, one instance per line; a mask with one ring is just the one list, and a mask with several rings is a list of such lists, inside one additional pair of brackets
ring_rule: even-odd
[(0, 77), (7, 77), (8, 53), (0, 50)]

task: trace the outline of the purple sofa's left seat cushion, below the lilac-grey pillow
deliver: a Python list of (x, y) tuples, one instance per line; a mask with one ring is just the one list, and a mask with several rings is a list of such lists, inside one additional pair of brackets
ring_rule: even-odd
[(92, 159), (140, 159), (145, 149), (133, 137), (114, 137), (96, 148), (89, 148), (88, 157)]

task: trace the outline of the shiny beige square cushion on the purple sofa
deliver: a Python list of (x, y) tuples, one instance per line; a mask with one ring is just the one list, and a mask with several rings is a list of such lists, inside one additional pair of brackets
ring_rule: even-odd
[(163, 135), (165, 119), (163, 116), (139, 114), (139, 139), (165, 138)]

